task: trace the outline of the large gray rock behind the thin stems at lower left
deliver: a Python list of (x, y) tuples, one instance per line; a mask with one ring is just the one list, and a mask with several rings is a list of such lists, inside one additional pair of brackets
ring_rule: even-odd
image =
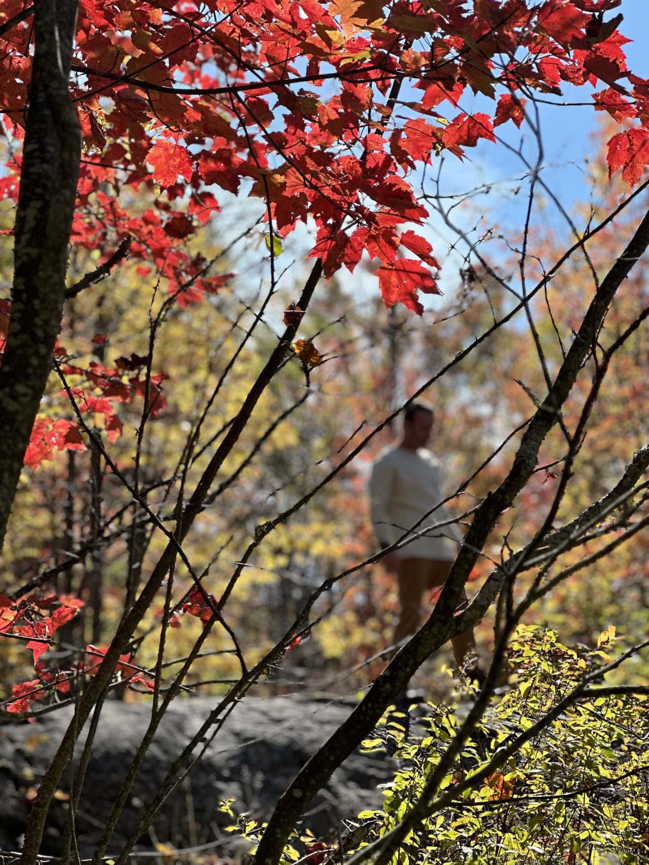
[[(109, 847), (117, 853), (145, 805), (157, 791), (173, 759), (190, 740), (215, 700), (195, 698), (172, 703), (145, 758), (129, 801)], [(80, 854), (91, 855), (119, 791), (132, 754), (149, 721), (143, 702), (127, 705), (108, 701), (101, 714), (86, 782), (80, 799), (76, 830)], [(219, 809), (235, 798), (236, 813), (263, 820), (318, 746), (350, 713), (337, 702), (290, 697), (247, 697), (228, 717), (222, 731), (183, 785), (164, 804), (153, 830), (140, 839), (140, 849), (155, 843), (176, 848), (218, 841), (220, 855), (232, 852), (233, 836), (222, 830), (233, 819)], [(43, 715), (33, 724), (0, 727), (0, 845), (16, 849), (25, 829), (29, 795), (45, 772), (61, 741), (71, 711)], [(78, 757), (83, 737), (75, 752)], [(395, 764), (384, 754), (353, 753), (309, 806), (302, 827), (317, 836), (337, 835), (344, 818), (380, 807), (376, 785), (389, 780)], [(67, 815), (65, 796), (70, 774), (61, 779), (61, 793), (50, 809), (42, 853), (60, 852)], [(31, 791), (30, 791), (31, 788)]]

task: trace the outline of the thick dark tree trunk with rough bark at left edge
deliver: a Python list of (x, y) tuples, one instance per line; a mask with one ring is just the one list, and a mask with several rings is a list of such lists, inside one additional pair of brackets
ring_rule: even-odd
[(81, 152), (68, 85), (77, 7), (76, 0), (39, 0), (34, 12), (11, 317), (0, 367), (0, 546), (61, 327)]

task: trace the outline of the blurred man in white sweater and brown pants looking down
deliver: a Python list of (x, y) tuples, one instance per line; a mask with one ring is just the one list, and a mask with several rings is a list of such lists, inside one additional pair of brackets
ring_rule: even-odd
[[(424, 593), (443, 586), (455, 560), (453, 541), (456, 545), (461, 542), (453, 525), (425, 531), (427, 525), (448, 519), (446, 511), (437, 507), (443, 498), (440, 468), (425, 447), (433, 423), (431, 407), (422, 402), (409, 404), (404, 411), (401, 444), (376, 460), (369, 481), (370, 516), (381, 547), (389, 547), (402, 535), (405, 541), (408, 536), (414, 538), (382, 559), (388, 572), (395, 574), (399, 590), (399, 620), (393, 639), (397, 646), (419, 629)], [(429, 511), (433, 513), (421, 522)], [(447, 540), (449, 536), (453, 541)], [(463, 590), (458, 610), (466, 602)], [(476, 656), (473, 629), (458, 634), (452, 643), (459, 670), (482, 682), (484, 673)]]

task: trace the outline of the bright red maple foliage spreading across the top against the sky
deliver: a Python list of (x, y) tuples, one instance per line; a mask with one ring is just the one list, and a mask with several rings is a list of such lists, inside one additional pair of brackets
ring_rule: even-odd
[[(610, 138), (609, 172), (638, 182), (649, 162), (649, 81), (627, 68), (621, 16), (604, 21), (619, 5), (80, 3), (71, 95), (85, 155), (71, 240), (102, 250), (101, 263), (131, 238), (139, 275), (164, 278), (177, 304), (193, 303), (227, 279), (204, 272), (185, 245), (226, 189), (263, 199), (281, 236), (314, 221), (311, 255), (325, 276), (353, 272), (367, 254), (385, 303), (421, 314), (419, 293), (439, 292), (439, 264), (412, 227), (427, 218), (417, 172), (445, 151), (461, 160), (480, 141), (498, 146), (494, 130), (523, 123), (526, 94), (590, 86), (594, 109), (626, 125)], [(16, 144), (31, 33), (21, 10), (4, 4), (0, 34), (3, 124)], [(466, 93), (490, 111), (462, 111)], [(16, 198), (20, 163), (15, 150), (0, 178), (5, 198)], [(114, 192), (142, 186), (160, 195), (133, 217)], [(145, 390), (127, 370), (138, 372), (132, 359), (67, 367), (79, 376), (80, 412), (102, 414), (112, 438), (116, 407)], [(153, 417), (163, 378), (147, 380)], [(80, 448), (70, 421), (39, 419), (26, 465)]]

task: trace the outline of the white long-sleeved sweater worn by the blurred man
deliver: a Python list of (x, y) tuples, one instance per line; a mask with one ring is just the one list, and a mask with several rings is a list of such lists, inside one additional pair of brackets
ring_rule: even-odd
[[(430, 451), (419, 448), (409, 451), (395, 447), (380, 457), (372, 467), (369, 480), (370, 514), (376, 537), (382, 547), (394, 543), (406, 529), (434, 510), (421, 525), (408, 533), (415, 538), (399, 551), (402, 558), (453, 561), (458, 553), (459, 533), (454, 526), (431, 529), (425, 535), (416, 535), (448, 519), (446, 509), (437, 507), (443, 496), (440, 491), (440, 467)], [(453, 539), (452, 541), (446, 540)]]

